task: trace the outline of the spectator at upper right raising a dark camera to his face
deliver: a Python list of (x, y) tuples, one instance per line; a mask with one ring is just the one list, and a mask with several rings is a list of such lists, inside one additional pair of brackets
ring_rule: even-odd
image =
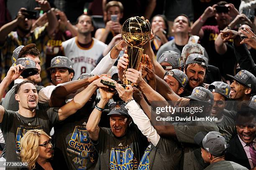
[[(219, 6), (224, 6), (224, 11), (217, 10)], [(225, 1), (220, 1), (212, 7), (205, 9), (204, 13), (198, 18), (191, 27), (191, 33), (200, 37), (201, 44), (205, 47), (209, 53), (209, 64), (216, 66), (220, 69), (220, 55), (215, 51), (214, 42), (220, 30), (223, 30), (232, 20), (238, 15), (239, 12), (236, 10), (233, 4), (229, 4)], [(215, 16), (217, 25), (204, 25), (207, 18)]]

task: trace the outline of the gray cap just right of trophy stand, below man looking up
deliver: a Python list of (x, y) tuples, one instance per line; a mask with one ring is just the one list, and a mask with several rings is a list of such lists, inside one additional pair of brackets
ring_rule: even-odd
[(164, 51), (158, 59), (158, 62), (165, 71), (170, 71), (172, 69), (181, 70), (180, 55), (175, 51)]

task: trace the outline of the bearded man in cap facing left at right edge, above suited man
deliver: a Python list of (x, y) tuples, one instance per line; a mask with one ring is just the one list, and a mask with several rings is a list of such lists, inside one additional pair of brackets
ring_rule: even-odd
[(251, 99), (251, 95), (256, 92), (256, 77), (251, 74), (247, 70), (241, 70), (236, 74), (236, 76), (231, 76), (233, 78), (232, 84), (230, 84), (230, 99), (237, 102), (229, 102), (226, 109), (236, 111), (241, 107), (243, 102), (241, 101), (249, 101)]

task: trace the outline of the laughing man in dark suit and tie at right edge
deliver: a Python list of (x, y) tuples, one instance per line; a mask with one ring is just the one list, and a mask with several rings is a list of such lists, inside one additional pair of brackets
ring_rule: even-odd
[(256, 167), (256, 96), (253, 96), (248, 106), (252, 110), (237, 113), (237, 135), (230, 141), (226, 160), (254, 170)]

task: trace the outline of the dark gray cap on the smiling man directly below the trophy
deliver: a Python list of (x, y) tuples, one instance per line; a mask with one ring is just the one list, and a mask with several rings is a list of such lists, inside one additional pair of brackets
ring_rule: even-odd
[(109, 114), (119, 114), (125, 117), (129, 117), (128, 110), (125, 108), (126, 104), (121, 101), (115, 101), (109, 105)]

